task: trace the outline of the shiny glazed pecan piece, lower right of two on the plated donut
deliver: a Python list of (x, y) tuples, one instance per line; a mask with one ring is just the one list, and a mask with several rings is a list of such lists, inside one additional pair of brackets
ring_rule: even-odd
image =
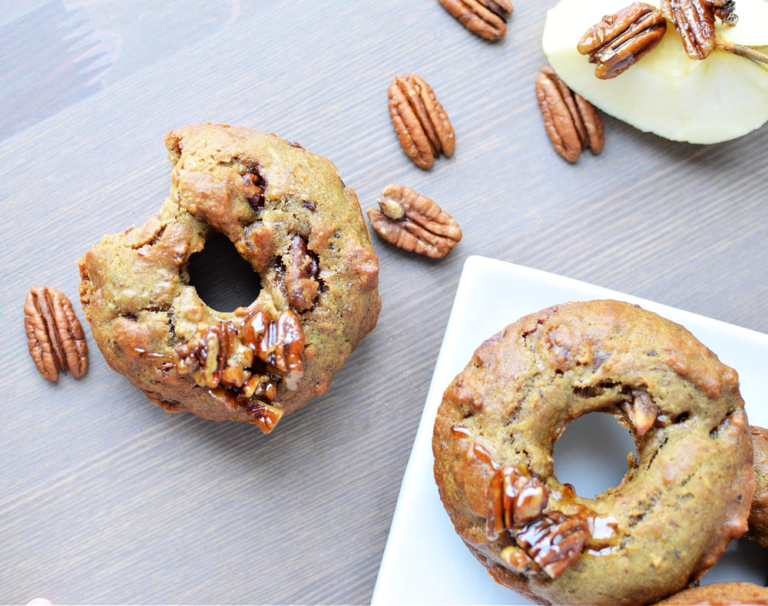
[(552, 579), (579, 558), (590, 538), (585, 518), (559, 511), (544, 514), (514, 535), (517, 544)]

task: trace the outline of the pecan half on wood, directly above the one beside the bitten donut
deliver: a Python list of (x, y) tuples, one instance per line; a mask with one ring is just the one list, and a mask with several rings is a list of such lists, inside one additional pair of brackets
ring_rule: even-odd
[(448, 115), (429, 84), (416, 74), (394, 77), (389, 114), (400, 145), (419, 168), (432, 168), (441, 152), (453, 155), (456, 135)]

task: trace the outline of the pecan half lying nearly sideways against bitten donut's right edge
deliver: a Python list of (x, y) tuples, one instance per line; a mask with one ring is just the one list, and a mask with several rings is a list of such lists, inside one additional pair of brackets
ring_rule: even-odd
[(373, 230), (387, 242), (409, 252), (442, 259), (461, 240), (459, 224), (434, 200), (401, 185), (387, 185), (369, 208)]

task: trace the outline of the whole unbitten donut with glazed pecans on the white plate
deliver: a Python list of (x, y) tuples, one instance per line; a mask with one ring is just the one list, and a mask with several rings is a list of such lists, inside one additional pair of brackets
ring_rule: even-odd
[[(590, 412), (639, 460), (579, 497), (552, 452)], [(682, 326), (618, 301), (566, 303), (483, 343), (443, 396), (435, 479), (491, 576), (541, 604), (645, 604), (699, 579), (747, 531), (752, 445), (736, 372)]]

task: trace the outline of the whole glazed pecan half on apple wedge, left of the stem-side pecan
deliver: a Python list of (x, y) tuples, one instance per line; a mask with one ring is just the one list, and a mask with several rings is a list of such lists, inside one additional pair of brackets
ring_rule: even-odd
[(666, 31), (667, 21), (659, 9), (634, 2), (589, 28), (576, 48), (597, 65), (595, 76), (609, 80), (656, 48)]

